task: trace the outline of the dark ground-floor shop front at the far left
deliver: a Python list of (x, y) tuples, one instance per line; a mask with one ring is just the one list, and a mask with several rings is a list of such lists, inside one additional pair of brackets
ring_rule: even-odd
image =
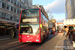
[(9, 35), (13, 28), (15, 28), (15, 23), (0, 21), (0, 36)]

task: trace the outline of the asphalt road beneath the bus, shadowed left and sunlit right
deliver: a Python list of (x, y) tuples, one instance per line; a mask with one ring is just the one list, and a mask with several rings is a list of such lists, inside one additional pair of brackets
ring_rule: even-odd
[(18, 38), (0, 39), (0, 50), (70, 50), (58, 47), (66, 45), (68, 40), (65, 39), (66, 37), (63, 37), (62, 34), (49, 35), (43, 43), (21, 43), (18, 41)]

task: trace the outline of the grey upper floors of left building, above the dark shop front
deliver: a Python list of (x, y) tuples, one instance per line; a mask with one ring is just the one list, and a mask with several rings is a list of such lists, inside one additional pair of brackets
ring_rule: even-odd
[(32, 0), (0, 0), (0, 21), (18, 24), (21, 10), (31, 7)]

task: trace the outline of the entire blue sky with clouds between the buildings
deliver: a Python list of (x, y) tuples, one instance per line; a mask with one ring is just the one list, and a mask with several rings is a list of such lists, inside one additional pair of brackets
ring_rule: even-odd
[(65, 0), (33, 0), (33, 5), (43, 5), (48, 13), (56, 20), (65, 19)]

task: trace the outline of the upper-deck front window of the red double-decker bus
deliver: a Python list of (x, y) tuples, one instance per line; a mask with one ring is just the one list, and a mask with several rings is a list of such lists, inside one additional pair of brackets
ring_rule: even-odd
[(27, 9), (22, 11), (21, 17), (39, 16), (39, 9)]

